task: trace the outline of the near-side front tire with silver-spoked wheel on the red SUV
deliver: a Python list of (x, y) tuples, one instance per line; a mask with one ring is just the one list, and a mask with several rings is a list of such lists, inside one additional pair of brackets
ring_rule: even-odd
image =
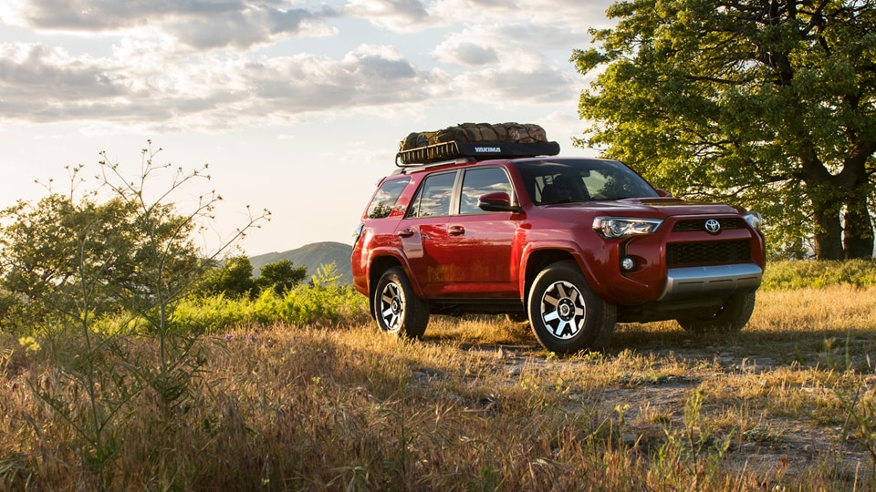
[(614, 304), (590, 290), (573, 261), (551, 264), (538, 274), (529, 290), (527, 310), (538, 341), (557, 354), (601, 350), (617, 316)]

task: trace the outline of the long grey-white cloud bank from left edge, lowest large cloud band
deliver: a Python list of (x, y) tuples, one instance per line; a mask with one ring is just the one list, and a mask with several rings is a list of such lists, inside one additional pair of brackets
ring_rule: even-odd
[(441, 72), (419, 70), (390, 46), (359, 46), (341, 59), (203, 56), (168, 74), (161, 66), (134, 71), (119, 60), (42, 45), (0, 45), (0, 119), (6, 120), (229, 128), (412, 102), (447, 85)]

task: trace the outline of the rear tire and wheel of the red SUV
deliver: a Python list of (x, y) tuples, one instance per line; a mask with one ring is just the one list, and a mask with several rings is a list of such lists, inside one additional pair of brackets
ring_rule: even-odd
[(401, 267), (383, 272), (374, 289), (371, 306), (381, 332), (402, 338), (422, 338), (429, 323), (429, 304), (413, 293)]

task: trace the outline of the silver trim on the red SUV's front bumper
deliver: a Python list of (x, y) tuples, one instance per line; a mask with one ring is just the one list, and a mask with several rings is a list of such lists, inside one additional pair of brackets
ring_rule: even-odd
[(754, 263), (671, 268), (666, 274), (666, 287), (658, 301), (753, 292), (760, 286), (763, 276), (764, 271)]

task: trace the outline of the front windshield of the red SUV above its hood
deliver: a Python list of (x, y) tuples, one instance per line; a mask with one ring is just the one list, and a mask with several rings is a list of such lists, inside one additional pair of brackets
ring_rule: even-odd
[(516, 163), (537, 205), (657, 197), (651, 185), (616, 160), (527, 160)]

